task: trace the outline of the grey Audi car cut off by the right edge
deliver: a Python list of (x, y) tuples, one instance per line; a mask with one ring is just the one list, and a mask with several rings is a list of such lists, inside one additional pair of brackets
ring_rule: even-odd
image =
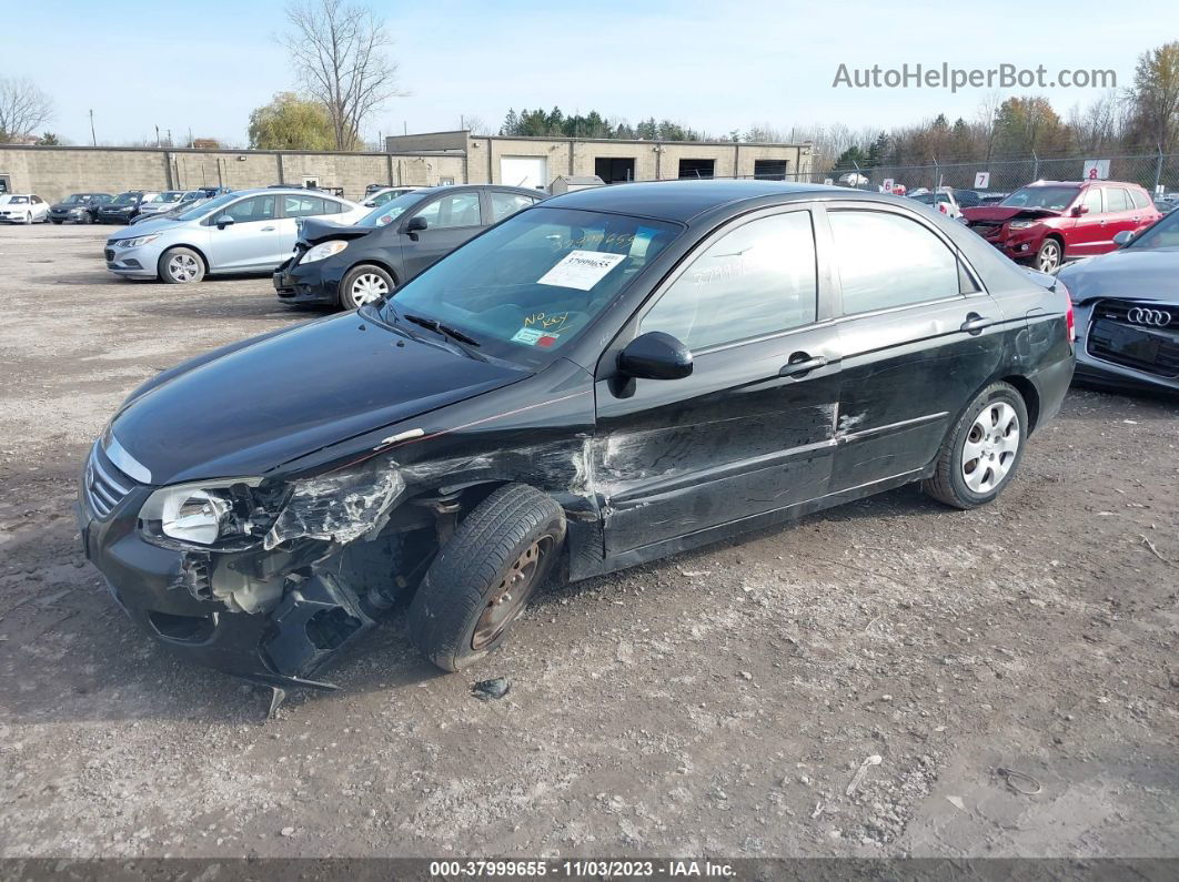
[(1179, 392), (1179, 212), (1059, 273), (1076, 310), (1076, 378)]

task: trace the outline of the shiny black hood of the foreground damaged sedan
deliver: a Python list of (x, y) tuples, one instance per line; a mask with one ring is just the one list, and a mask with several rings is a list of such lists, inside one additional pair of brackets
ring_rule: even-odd
[(179, 372), (111, 427), (152, 484), (250, 477), (527, 376), (344, 313)]

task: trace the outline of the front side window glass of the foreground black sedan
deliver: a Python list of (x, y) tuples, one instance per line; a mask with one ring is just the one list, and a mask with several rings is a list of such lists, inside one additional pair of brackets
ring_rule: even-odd
[(815, 231), (808, 211), (743, 224), (714, 241), (643, 317), (690, 350), (806, 325), (817, 310)]

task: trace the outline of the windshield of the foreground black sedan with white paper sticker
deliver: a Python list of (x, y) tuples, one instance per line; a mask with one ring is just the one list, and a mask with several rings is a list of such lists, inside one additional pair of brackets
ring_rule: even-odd
[(434, 319), (492, 354), (535, 362), (539, 351), (575, 339), (680, 230), (645, 218), (528, 208), (407, 283), (382, 314)]

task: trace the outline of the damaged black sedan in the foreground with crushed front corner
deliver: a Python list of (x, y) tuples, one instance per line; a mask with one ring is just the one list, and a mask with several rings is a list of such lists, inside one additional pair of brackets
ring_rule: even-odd
[(435, 664), (577, 581), (909, 482), (994, 499), (1073, 373), (1056, 279), (891, 197), (585, 190), (143, 385), (80, 483), (149, 634), (276, 687), (399, 598)]

